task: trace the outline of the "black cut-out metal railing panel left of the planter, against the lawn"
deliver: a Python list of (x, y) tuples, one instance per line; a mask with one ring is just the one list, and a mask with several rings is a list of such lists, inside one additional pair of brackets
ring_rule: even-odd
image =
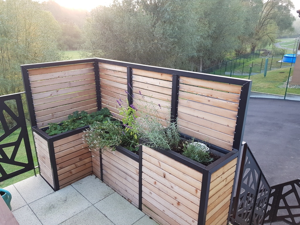
[[(25, 114), (24, 114), (23, 104), (22, 104), (22, 96), (21, 95), (23, 93), (24, 92), (0, 96), (0, 106), (1, 106), (0, 123), (2, 124), (3, 129), (4, 129), (4, 134), (2, 136), (0, 136), (0, 155), (1, 155), (0, 163), (11, 164), (11, 165), (23, 167), (22, 169), (16, 170), (13, 173), (7, 173), (5, 171), (5, 169), (2, 167), (2, 165), (0, 164), (0, 173), (1, 173), (0, 181), (10, 179), (14, 176), (17, 176), (17, 175), (20, 175), (27, 171), (35, 169), (33, 158), (32, 158), (30, 142), (29, 142), (27, 126), (26, 126), (26, 119), (25, 119)], [(18, 116), (5, 104), (5, 101), (9, 101), (9, 100), (16, 101)], [(12, 128), (9, 128), (7, 125), (6, 119), (3, 114), (4, 110), (16, 122), (16, 125), (14, 125)], [(4, 143), (4, 144), (2, 143), (1, 144), (1, 142), (3, 140), (5, 140), (5, 138), (7, 138), (10, 134), (15, 132), (19, 128), (21, 128), (21, 130), (20, 130), (19, 136), (16, 141), (11, 142), (11, 143)], [(25, 151), (26, 151), (28, 163), (15, 161), (15, 157), (19, 151), (19, 146), (22, 141), (25, 145)], [(7, 148), (7, 147), (13, 147), (13, 146), (14, 146), (13, 152), (10, 156), (8, 156), (3, 149)]]

